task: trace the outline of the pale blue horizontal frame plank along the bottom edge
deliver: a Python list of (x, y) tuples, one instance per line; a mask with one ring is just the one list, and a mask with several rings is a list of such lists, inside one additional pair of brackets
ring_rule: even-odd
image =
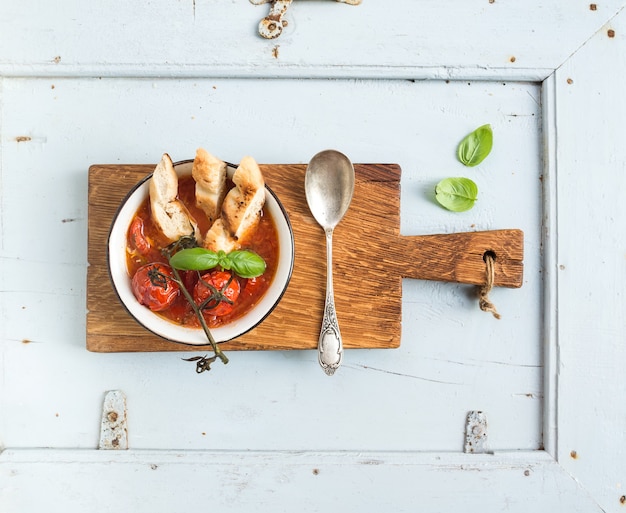
[[(219, 493), (205, 496), (207, 482)], [(138, 494), (146, 483), (150, 493)], [(608, 511), (540, 451), (8, 449), (0, 456), (0, 485), (2, 504), (15, 512), (50, 504), (90, 513), (108, 513), (112, 505), (122, 511), (193, 511), (199, 499), (225, 513), (412, 512), (416, 504), (425, 511), (455, 511), (459, 497), (464, 511), (481, 513)]]

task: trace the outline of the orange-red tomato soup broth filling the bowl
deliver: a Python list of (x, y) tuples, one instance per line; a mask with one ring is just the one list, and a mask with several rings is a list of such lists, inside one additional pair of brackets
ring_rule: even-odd
[[(232, 187), (232, 183), (229, 183)], [(178, 199), (181, 200), (190, 214), (198, 224), (200, 233), (206, 233), (210, 228), (210, 221), (204, 212), (196, 206), (195, 202), (195, 181), (193, 177), (181, 177), (178, 182)], [(143, 222), (143, 235), (150, 243), (150, 249), (145, 247), (137, 248), (137, 244), (133, 242), (133, 238), (129, 232), (126, 235), (126, 266), (128, 274), (132, 278), (137, 269), (145, 264), (153, 262), (167, 263), (167, 258), (161, 254), (161, 249), (169, 244), (169, 241), (163, 236), (152, 221), (150, 212), (150, 198), (146, 198), (133, 217), (131, 226), (135, 219), (139, 218)], [(234, 303), (232, 312), (227, 315), (216, 317), (210, 311), (203, 312), (204, 318), (209, 328), (216, 328), (228, 324), (235, 319), (242, 317), (250, 311), (254, 305), (263, 297), (269, 288), (278, 265), (278, 232), (271, 214), (263, 209), (259, 224), (254, 230), (252, 236), (244, 241), (241, 249), (247, 249), (259, 254), (267, 265), (265, 272), (252, 279), (241, 278), (235, 276), (234, 279), (239, 280), (241, 293)], [(185, 284), (185, 288), (193, 295), (193, 288), (198, 281), (199, 274), (196, 271), (179, 271), (181, 279)], [(204, 274), (209, 271), (201, 271)], [(154, 312), (176, 324), (186, 327), (200, 328), (200, 322), (193, 312), (191, 305), (181, 293), (172, 305), (166, 310)]]

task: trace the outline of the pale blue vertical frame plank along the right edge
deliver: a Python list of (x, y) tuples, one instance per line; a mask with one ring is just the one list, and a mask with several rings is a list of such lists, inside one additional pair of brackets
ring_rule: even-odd
[[(558, 197), (555, 457), (606, 512), (626, 511), (624, 34), (622, 10), (556, 70), (550, 162)], [(581, 144), (583, 126), (591, 130)]]

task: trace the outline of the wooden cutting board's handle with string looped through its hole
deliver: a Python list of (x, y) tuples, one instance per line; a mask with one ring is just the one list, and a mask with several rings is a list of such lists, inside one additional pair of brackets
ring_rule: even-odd
[(399, 246), (402, 254), (394, 266), (405, 278), (483, 285), (489, 254), (495, 260), (495, 286), (522, 286), (522, 230), (400, 236)]

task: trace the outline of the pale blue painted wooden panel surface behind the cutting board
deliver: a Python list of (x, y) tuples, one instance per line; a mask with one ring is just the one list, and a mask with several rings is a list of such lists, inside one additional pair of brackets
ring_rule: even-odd
[[(0, 5), (3, 510), (107, 511), (113, 487), (134, 511), (626, 507), (623, 1), (301, 1), (272, 42), (247, 2)], [(484, 122), (494, 152), (466, 170), (454, 147)], [(88, 353), (88, 166), (198, 145), (398, 162), (403, 233), (522, 228), (524, 285), (494, 291), (495, 321), (471, 288), (406, 280), (401, 348), (333, 378), (313, 351), (207, 376)], [(481, 196), (454, 215), (429, 191), (458, 174)], [(115, 454), (95, 450), (111, 389)], [(462, 454), (474, 409), (493, 455)]]

